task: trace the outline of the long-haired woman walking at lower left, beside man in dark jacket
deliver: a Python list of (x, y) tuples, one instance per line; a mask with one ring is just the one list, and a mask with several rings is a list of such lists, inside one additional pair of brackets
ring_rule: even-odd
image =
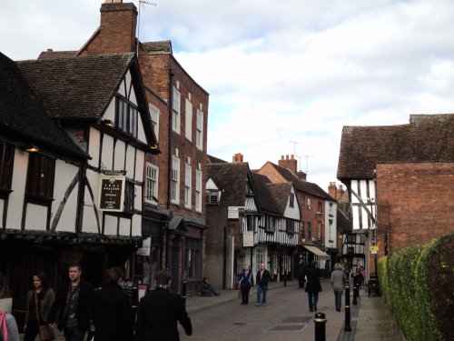
[(34, 341), (39, 334), (39, 326), (48, 325), (49, 312), (55, 299), (54, 290), (48, 286), (43, 271), (36, 271), (32, 278), (34, 289), (27, 293), (24, 341)]

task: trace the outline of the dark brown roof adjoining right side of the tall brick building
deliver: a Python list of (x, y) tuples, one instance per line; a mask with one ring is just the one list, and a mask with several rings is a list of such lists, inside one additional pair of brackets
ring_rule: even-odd
[(222, 206), (244, 206), (246, 184), (250, 175), (247, 163), (207, 164), (207, 177), (222, 190)]

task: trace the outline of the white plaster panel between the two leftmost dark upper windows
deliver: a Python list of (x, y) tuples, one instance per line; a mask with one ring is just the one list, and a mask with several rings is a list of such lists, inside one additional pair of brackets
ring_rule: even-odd
[(13, 192), (9, 195), (8, 212), (6, 216), (6, 227), (21, 229), (22, 207), (24, 205), (25, 182), (28, 165), (28, 153), (15, 149), (15, 168), (11, 188)]

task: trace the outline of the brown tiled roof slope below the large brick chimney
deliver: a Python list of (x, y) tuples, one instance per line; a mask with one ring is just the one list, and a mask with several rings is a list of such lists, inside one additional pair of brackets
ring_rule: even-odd
[(17, 62), (51, 117), (96, 119), (104, 114), (133, 53)]

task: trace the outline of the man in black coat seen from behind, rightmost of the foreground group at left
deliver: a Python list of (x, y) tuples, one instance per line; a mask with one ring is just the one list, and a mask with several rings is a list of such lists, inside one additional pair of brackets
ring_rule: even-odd
[(171, 277), (165, 272), (156, 272), (155, 289), (140, 300), (135, 324), (137, 341), (178, 341), (177, 321), (186, 335), (192, 335), (191, 319), (182, 297), (170, 291), (171, 282)]

